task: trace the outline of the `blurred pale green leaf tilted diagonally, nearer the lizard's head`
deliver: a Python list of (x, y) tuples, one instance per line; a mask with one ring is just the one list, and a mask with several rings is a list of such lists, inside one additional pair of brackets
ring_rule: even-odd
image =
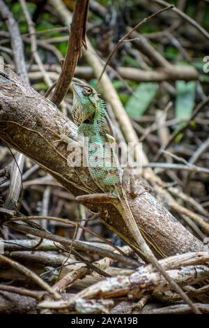
[(153, 82), (140, 83), (125, 105), (125, 110), (130, 117), (140, 117), (144, 114), (150, 102), (157, 94), (159, 85)]

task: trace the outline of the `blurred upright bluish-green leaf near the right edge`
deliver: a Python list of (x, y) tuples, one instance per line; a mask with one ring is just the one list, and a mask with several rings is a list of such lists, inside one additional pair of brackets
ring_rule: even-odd
[[(176, 81), (176, 119), (189, 119), (194, 108), (196, 82)], [(177, 126), (179, 128), (179, 124)]]

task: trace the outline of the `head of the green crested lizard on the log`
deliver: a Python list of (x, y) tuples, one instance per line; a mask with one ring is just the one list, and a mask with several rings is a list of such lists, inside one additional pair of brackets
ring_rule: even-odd
[(97, 92), (88, 84), (75, 78), (71, 87), (73, 92), (72, 117), (75, 124), (78, 126), (82, 123), (91, 124), (100, 100)]

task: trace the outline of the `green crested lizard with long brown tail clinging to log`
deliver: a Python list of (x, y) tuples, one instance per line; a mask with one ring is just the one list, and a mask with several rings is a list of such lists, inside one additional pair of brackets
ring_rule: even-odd
[(106, 146), (111, 142), (105, 127), (106, 107), (103, 100), (99, 98), (95, 89), (77, 79), (72, 82), (72, 91), (72, 117), (75, 124), (79, 126), (78, 135), (80, 139), (82, 137), (88, 137), (88, 144), (86, 149), (84, 149), (86, 157), (88, 157), (88, 170), (93, 181), (102, 192), (93, 195), (78, 196), (77, 200), (82, 202), (82, 204), (90, 204), (96, 201), (100, 204), (112, 204), (118, 213), (121, 214), (127, 229), (132, 234), (137, 247), (144, 254), (146, 260), (160, 271), (160, 274), (164, 276), (171, 287), (192, 308), (194, 313), (201, 313), (176, 281), (173, 281), (173, 278), (167, 274), (167, 271), (160, 265), (153, 251), (146, 244), (127, 202), (126, 192), (122, 185), (123, 170), (111, 147), (111, 161), (109, 161), (109, 165), (105, 165)]

